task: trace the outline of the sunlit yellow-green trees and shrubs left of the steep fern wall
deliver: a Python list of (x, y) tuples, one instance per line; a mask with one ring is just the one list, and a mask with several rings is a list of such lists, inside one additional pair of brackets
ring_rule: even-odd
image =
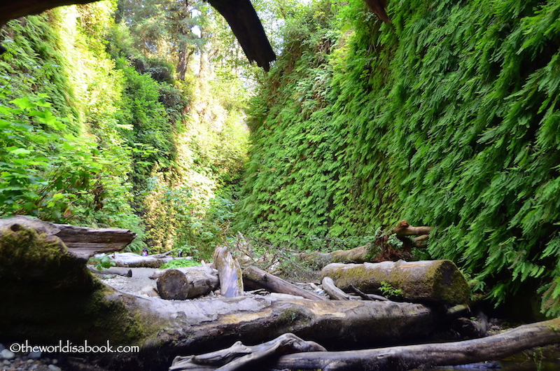
[(232, 193), (217, 193), (246, 155), (244, 89), (215, 60), (225, 41), (183, 22), (225, 27), (211, 9), (163, 2), (56, 8), (2, 30), (0, 215), (128, 228), (137, 252), (200, 259), (225, 241)]

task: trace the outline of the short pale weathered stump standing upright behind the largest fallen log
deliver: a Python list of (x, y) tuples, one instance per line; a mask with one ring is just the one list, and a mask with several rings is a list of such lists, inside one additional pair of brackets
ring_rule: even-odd
[(243, 273), (226, 246), (214, 250), (214, 265), (220, 277), (220, 293), (225, 297), (243, 296)]

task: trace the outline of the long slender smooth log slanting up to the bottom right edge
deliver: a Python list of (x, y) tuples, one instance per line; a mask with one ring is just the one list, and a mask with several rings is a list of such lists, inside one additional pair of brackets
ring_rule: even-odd
[[(465, 365), (502, 359), (524, 349), (560, 342), (560, 318), (521, 325), (482, 339), (383, 349), (296, 353), (281, 356), (270, 367), (279, 370), (405, 371), (443, 365)], [(264, 367), (262, 367), (264, 369)]]

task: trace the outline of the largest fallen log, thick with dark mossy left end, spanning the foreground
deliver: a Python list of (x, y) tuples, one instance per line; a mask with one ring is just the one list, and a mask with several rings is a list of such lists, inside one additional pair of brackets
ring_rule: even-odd
[(0, 231), (0, 282), (0, 338), (142, 346), (124, 357), (91, 355), (113, 370), (167, 368), (178, 353), (258, 344), (286, 332), (330, 347), (394, 344), (426, 337), (437, 323), (422, 304), (129, 295), (104, 286), (57, 237), (30, 228)]

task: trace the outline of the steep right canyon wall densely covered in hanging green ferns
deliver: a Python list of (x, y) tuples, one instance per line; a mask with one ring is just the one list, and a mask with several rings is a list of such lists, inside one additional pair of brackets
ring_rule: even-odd
[(280, 241), (436, 226), (494, 302), (560, 313), (560, 1), (317, 1), (252, 101), (241, 214)]

